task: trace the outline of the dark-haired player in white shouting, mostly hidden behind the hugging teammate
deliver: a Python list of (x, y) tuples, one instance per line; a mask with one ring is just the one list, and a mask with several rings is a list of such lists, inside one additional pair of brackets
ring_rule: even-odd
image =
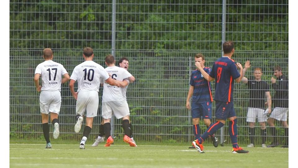
[[(129, 67), (129, 60), (125, 57), (123, 58), (120, 58), (119, 59), (119, 67), (121, 68), (124, 68), (126, 70), (128, 70), (128, 67)], [(126, 90), (127, 90), (127, 87), (129, 85), (129, 79), (124, 79), (124, 82), (127, 82), (127, 85), (125, 87), (121, 87), (121, 91), (122, 91), (122, 95), (124, 96), (125, 100), (126, 100)], [(98, 134), (98, 137), (95, 139), (95, 142), (93, 143), (93, 147), (97, 147), (98, 146), (98, 143), (100, 142), (104, 142), (104, 138), (103, 136), (105, 136), (105, 133), (104, 133), (104, 121), (102, 120), (101, 122), (101, 125), (99, 127), (99, 134)], [(132, 125), (131, 125), (131, 121), (129, 120), (129, 128), (130, 128), (130, 135), (129, 135), (129, 138), (131, 139), (131, 141), (134, 142), (135, 144), (135, 141), (133, 140), (133, 132), (132, 132)], [(132, 147), (137, 147), (137, 145), (132, 145)]]

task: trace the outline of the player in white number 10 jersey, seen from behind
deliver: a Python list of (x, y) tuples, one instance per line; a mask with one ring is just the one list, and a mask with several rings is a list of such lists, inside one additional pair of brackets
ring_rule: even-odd
[[(81, 130), (83, 115), (86, 111), (86, 126), (80, 142), (80, 149), (85, 149), (85, 142), (92, 129), (93, 117), (97, 116), (100, 80), (102, 79), (114, 87), (120, 86), (119, 81), (111, 79), (101, 65), (93, 62), (94, 54), (92, 48), (85, 47), (83, 57), (85, 61), (75, 67), (69, 82), (71, 94), (77, 100), (75, 107), (75, 113), (77, 114), (76, 133)], [(78, 81), (77, 92), (74, 89), (75, 81)]]

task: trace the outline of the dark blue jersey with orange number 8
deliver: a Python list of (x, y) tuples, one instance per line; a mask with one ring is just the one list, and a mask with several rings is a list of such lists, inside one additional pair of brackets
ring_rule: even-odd
[(235, 61), (229, 57), (219, 58), (209, 75), (215, 78), (214, 100), (233, 101), (234, 80), (240, 77)]

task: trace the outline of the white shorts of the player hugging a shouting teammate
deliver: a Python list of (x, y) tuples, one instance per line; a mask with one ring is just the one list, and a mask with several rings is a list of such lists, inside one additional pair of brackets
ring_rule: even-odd
[(121, 119), (129, 115), (130, 113), (127, 101), (102, 102), (102, 118), (110, 119), (112, 118), (112, 114), (114, 114), (117, 119)]

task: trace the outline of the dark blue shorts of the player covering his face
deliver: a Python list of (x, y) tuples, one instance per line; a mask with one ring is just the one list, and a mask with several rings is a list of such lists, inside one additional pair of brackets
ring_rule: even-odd
[(192, 103), (192, 118), (211, 119), (212, 102)]

